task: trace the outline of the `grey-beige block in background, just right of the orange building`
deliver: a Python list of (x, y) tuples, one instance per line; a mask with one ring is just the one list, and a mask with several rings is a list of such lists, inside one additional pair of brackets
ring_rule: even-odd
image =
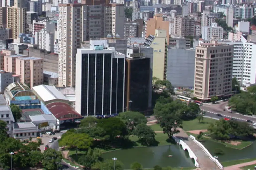
[(177, 16), (174, 19), (175, 35), (178, 37), (194, 36), (195, 19), (193, 17)]

